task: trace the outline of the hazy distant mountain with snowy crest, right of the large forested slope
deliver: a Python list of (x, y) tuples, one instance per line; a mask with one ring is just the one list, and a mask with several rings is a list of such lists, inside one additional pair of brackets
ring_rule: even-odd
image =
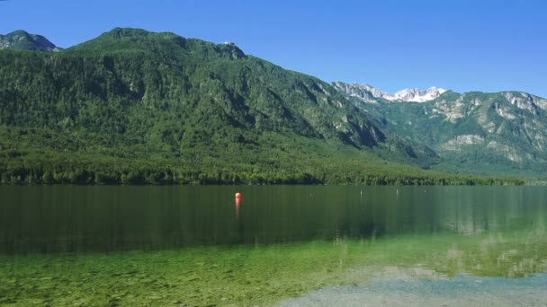
[[(526, 92), (442, 92), (393, 103), (358, 84), (335, 83), (384, 130), (421, 143), (443, 171), (543, 176), (547, 171), (547, 100)], [(364, 92), (364, 93), (361, 93)]]

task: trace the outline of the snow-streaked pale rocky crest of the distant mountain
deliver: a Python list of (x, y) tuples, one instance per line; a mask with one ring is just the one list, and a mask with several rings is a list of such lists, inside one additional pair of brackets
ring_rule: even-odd
[(432, 101), (446, 92), (444, 89), (433, 86), (426, 90), (405, 89), (391, 94), (388, 92), (382, 92), (370, 84), (347, 84), (335, 82), (333, 85), (338, 91), (345, 92), (350, 96), (357, 97), (366, 102), (374, 102), (379, 98), (386, 101), (425, 102)]

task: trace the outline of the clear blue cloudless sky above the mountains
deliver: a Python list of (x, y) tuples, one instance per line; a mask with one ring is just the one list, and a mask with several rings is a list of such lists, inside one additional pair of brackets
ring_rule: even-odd
[(114, 27), (232, 41), (325, 81), (547, 97), (547, 1), (8, 0), (0, 33), (61, 47)]

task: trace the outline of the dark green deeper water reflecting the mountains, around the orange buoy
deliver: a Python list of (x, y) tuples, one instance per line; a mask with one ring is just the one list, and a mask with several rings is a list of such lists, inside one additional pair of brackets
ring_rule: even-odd
[(506, 231), (544, 225), (546, 200), (535, 187), (4, 186), (0, 254)]

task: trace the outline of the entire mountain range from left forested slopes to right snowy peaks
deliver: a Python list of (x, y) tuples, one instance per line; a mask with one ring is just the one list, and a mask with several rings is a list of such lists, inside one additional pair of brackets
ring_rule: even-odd
[(139, 29), (0, 46), (0, 183), (492, 184), (521, 181), (439, 171), (544, 165), (531, 95), (389, 94)]

